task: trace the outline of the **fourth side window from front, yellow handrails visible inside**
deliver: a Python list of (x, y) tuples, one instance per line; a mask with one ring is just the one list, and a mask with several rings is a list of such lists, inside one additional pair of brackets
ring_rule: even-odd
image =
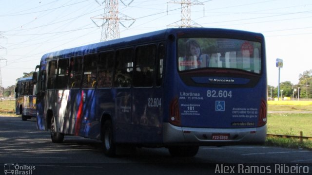
[(88, 54), (83, 58), (82, 88), (95, 88), (97, 83), (98, 57)]

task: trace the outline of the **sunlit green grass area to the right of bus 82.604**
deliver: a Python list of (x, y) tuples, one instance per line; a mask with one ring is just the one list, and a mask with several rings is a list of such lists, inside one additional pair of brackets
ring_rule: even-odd
[[(312, 101), (269, 101), (268, 134), (312, 137)], [(312, 140), (267, 137), (266, 145), (312, 149)]]

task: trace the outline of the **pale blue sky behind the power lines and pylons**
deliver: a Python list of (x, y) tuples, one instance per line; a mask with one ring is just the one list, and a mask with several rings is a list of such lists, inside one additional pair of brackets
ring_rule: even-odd
[[(119, 0), (120, 37), (175, 27), (182, 0)], [(185, 0), (186, 1), (186, 0)], [(0, 0), (2, 87), (16, 84), (45, 53), (97, 43), (104, 0)], [(298, 84), (312, 70), (312, 0), (191, 0), (191, 19), (208, 28), (262, 33), (266, 41), (268, 85)], [(133, 23), (134, 22), (134, 23)], [(133, 23), (133, 24), (132, 24)]]

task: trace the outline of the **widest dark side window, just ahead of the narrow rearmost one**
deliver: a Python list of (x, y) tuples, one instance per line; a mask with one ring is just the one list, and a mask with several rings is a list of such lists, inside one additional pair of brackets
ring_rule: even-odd
[(137, 47), (134, 87), (153, 87), (155, 57), (156, 45)]

